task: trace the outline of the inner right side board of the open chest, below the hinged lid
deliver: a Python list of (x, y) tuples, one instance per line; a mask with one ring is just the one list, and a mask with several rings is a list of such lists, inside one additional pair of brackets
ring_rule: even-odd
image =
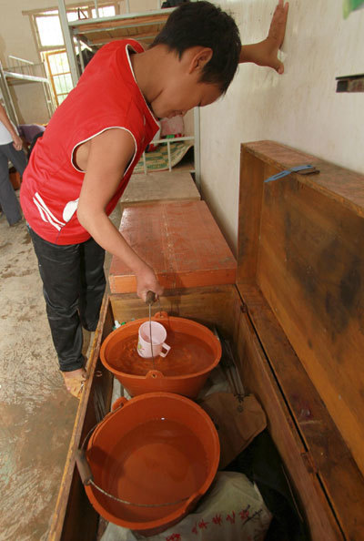
[(312, 540), (342, 540), (343, 536), (322, 492), (319, 479), (307, 467), (307, 450), (298, 437), (284, 397), (245, 313), (240, 317), (236, 343), (242, 381), (248, 392), (258, 397), (268, 416), (268, 430), (296, 487), (296, 498), (305, 509)]

